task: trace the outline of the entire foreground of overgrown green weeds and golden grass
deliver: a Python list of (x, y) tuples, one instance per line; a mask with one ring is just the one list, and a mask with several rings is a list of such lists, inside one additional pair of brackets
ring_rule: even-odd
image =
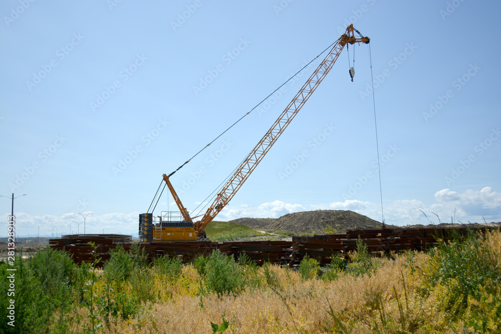
[[(217, 251), (189, 264), (165, 256), (148, 265), (141, 250), (118, 248), (103, 270), (94, 270), (94, 279), (89, 266), (73, 265), (65, 253), (40, 252), (33, 262), (16, 262), (19, 327), (4, 323), (0, 331), (93, 328), (92, 281), (94, 326), (103, 323), (105, 333), (211, 333), (226, 326), (224, 332), (238, 333), (501, 332), (499, 231), (458, 235), (428, 252), (391, 258), (371, 258), (364, 248), (360, 243), (350, 256), (333, 256), (322, 273), (313, 258), (299, 270), (258, 267), (246, 255), (235, 259)], [(3, 274), (6, 268), (0, 264)], [(43, 283), (50, 279), (58, 287)], [(2, 281), (0, 293), (5, 291)], [(0, 302), (5, 313), (5, 298)]]

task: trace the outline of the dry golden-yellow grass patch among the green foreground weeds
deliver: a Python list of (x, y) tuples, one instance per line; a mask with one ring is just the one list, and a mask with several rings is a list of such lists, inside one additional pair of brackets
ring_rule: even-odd
[[(485, 242), (501, 253), (501, 233), (487, 235)], [(450, 314), (442, 308), (447, 290), (423, 289), (429, 259), (425, 253), (397, 255), (379, 260), (370, 276), (346, 274), (331, 282), (305, 281), (295, 271), (272, 265), (273, 288), (265, 283), (221, 298), (198, 295), (201, 278), (192, 265), (185, 265), (175, 282), (156, 276), (157, 302), (144, 305), (133, 319), (110, 323), (103, 332), (212, 333), (210, 322), (221, 323), (222, 314), (229, 321), (226, 332), (232, 333), (463, 332), (463, 323), (449, 324)], [(497, 260), (501, 265), (499, 256)], [(265, 282), (264, 268), (260, 270)]]

